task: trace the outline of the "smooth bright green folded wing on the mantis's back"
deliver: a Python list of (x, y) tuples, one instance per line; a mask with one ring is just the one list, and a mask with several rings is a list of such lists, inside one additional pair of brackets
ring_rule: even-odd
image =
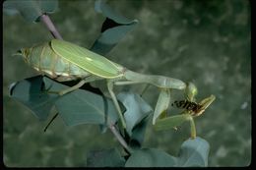
[(59, 56), (100, 78), (112, 79), (122, 76), (123, 68), (120, 65), (74, 43), (52, 39), (51, 47)]

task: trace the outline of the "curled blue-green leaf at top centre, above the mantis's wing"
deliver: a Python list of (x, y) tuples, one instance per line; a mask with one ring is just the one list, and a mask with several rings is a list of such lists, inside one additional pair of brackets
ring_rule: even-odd
[(96, 12), (102, 13), (106, 17), (101, 34), (96, 39), (91, 50), (105, 55), (108, 53), (127, 32), (131, 31), (138, 24), (137, 20), (129, 20), (121, 14), (113, 11), (111, 7), (106, 5), (103, 1), (96, 1)]

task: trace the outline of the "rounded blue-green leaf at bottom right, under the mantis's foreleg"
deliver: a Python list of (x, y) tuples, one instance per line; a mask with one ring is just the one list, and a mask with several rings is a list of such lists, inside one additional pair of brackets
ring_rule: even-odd
[(208, 155), (210, 144), (197, 137), (194, 140), (187, 140), (182, 143), (179, 157), (177, 158), (177, 166), (191, 167), (191, 166), (208, 166)]

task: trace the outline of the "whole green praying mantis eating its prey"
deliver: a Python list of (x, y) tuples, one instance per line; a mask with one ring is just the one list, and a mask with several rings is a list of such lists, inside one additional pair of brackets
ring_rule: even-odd
[[(180, 80), (164, 76), (144, 75), (133, 72), (93, 51), (64, 40), (52, 39), (49, 42), (41, 43), (31, 48), (22, 48), (17, 54), (22, 55), (25, 62), (32, 66), (33, 69), (58, 82), (80, 80), (77, 85), (58, 91), (59, 95), (71, 92), (86, 83), (106, 80), (107, 89), (124, 129), (126, 129), (126, 123), (113, 92), (114, 85), (148, 84), (160, 88), (160, 95), (153, 117), (153, 124), (156, 125), (157, 129), (161, 129), (162, 126), (160, 124), (166, 124), (166, 120), (170, 124), (174, 122), (173, 127), (175, 127), (179, 122), (192, 119), (192, 113), (195, 113), (196, 116), (202, 114), (215, 99), (215, 96), (211, 95), (198, 104), (200, 108), (198, 107), (198, 109), (194, 110), (186, 109), (185, 114), (174, 116), (173, 118), (167, 117), (167, 119), (162, 119), (165, 120), (162, 122), (158, 118), (163, 115), (162, 113), (169, 105), (170, 90), (184, 90), (186, 98), (192, 102), (196, 94), (193, 84), (185, 84)], [(164, 116), (160, 118), (164, 118)], [(181, 121), (177, 121), (177, 118)], [(195, 133), (194, 130), (192, 137), (195, 137)]]

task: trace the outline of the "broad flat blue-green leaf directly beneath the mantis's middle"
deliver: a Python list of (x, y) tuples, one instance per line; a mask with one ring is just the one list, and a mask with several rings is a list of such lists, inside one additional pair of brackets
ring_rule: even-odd
[[(56, 85), (50, 81), (52, 88), (56, 90)], [(67, 88), (68, 86), (64, 88)], [(57, 91), (63, 88), (58, 88)], [(55, 106), (67, 126), (80, 124), (114, 124), (118, 120), (118, 115), (111, 99), (93, 93), (88, 90), (77, 89), (67, 93), (55, 101)]]

